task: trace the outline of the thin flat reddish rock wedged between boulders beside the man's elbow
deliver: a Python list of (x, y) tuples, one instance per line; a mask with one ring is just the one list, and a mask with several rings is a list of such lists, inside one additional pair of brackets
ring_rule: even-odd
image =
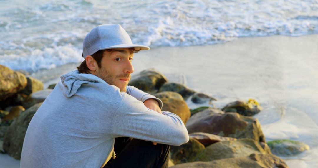
[(236, 138), (232, 138), (232, 137), (223, 137), (223, 136), (218, 136), (218, 135), (204, 133), (204, 132), (191, 133), (189, 134), (189, 137), (196, 139), (197, 141), (202, 143), (205, 147), (220, 141), (236, 141), (237, 140)]

